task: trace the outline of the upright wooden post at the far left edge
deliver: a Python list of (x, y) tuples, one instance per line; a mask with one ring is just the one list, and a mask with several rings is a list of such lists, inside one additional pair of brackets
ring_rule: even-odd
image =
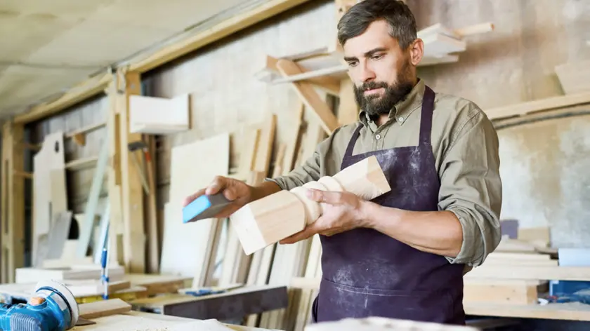
[(21, 124), (6, 121), (2, 127), (2, 163), (0, 164), (1, 283), (12, 283), (15, 269), (25, 265), (25, 179)]

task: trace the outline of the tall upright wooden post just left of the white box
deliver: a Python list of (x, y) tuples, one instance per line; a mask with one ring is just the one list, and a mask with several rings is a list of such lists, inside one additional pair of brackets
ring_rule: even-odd
[(120, 121), (121, 201), (123, 216), (123, 255), (127, 272), (145, 272), (145, 233), (143, 225), (143, 187), (139, 170), (133, 165), (129, 144), (142, 140), (140, 133), (130, 132), (129, 98), (141, 94), (138, 72), (117, 72), (124, 86), (117, 90), (117, 112)]

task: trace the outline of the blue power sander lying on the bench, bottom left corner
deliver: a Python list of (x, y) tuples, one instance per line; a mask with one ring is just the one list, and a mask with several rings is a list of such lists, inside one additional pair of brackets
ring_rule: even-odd
[(55, 281), (40, 281), (26, 304), (0, 304), (2, 331), (64, 331), (78, 322), (72, 292)]

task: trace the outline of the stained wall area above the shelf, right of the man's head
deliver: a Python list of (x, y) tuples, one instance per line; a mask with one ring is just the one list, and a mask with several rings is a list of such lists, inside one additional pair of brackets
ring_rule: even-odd
[(492, 22), (493, 32), (467, 37), (459, 62), (420, 69), (436, 90), (483, 109), (563, 95), (554, 72), (590, 59), (590, 2), (575, 0), (408, 0), (418, 28)]

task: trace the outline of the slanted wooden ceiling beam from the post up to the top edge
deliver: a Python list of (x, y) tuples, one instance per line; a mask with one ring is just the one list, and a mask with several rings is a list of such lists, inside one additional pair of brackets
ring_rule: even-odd
[(132, 60), (129, 70), (133, 72), (147, 72), (155, 67), (164, 65), (166, 62), (180, 58), (203, 46), (214, 43), (223, 39), (230, 34), (234, 34), (242, 29), (255, 25), (258, 22), (271, 18), (279, 13), (287, 11), (295, 6), (306, 3), (309, 0), (270, 0), (265, 1), (256, 8), (249, 9), (244, 13), (237, 14), (209, 27), (199, 31), (186, 39), (164, 46), (145, 58)]

